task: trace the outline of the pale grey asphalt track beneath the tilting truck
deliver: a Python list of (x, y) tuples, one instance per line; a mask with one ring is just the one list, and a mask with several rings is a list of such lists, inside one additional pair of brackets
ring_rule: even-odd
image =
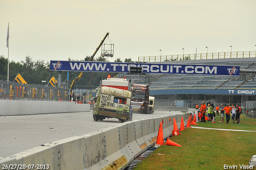
[[(133, 114), (132, 120), (183, 114), (155, 111), (154, 114)], [(73, 136), (81, 136), (120, 124), (118, 119), (95, 122), (92, 112), (0, 116), (0, 157)]]

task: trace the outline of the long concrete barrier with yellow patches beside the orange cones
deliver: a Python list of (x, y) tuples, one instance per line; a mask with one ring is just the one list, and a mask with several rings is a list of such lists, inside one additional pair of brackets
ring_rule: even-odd
[(0, 165), (49, 166), (50, 170), (123, 170), (136, 156), (156, 143), (160, 122), (164, 138), (172, 134), (173, 118), (180, 127), (190, 113), (125, 122), (83, 136), (51, 142), (8, 157)]

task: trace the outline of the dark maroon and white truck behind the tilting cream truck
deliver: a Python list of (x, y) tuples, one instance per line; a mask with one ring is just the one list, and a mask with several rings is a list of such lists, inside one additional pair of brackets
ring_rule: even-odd
[(149, 103), (149, 85), (133, 84), (131, 87), (131, 91), (132, 112), (152, 114), (154, 110), (152, 110), (152, 106), (150, 106)]

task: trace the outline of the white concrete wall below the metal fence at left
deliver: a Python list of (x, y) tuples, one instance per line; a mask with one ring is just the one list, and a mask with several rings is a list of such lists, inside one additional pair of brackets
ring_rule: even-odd
[(0, 100), (0, 116), (90, 112), (90, 104), (53, 101)]

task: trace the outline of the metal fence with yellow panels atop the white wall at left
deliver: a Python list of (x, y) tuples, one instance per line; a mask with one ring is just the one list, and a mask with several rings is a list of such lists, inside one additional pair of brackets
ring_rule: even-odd
[(22, 84), (0, 80), (0, 99), (4, 100), (37, 100), (68, 101), (68, 88), (42, 86), (38, 84)]

